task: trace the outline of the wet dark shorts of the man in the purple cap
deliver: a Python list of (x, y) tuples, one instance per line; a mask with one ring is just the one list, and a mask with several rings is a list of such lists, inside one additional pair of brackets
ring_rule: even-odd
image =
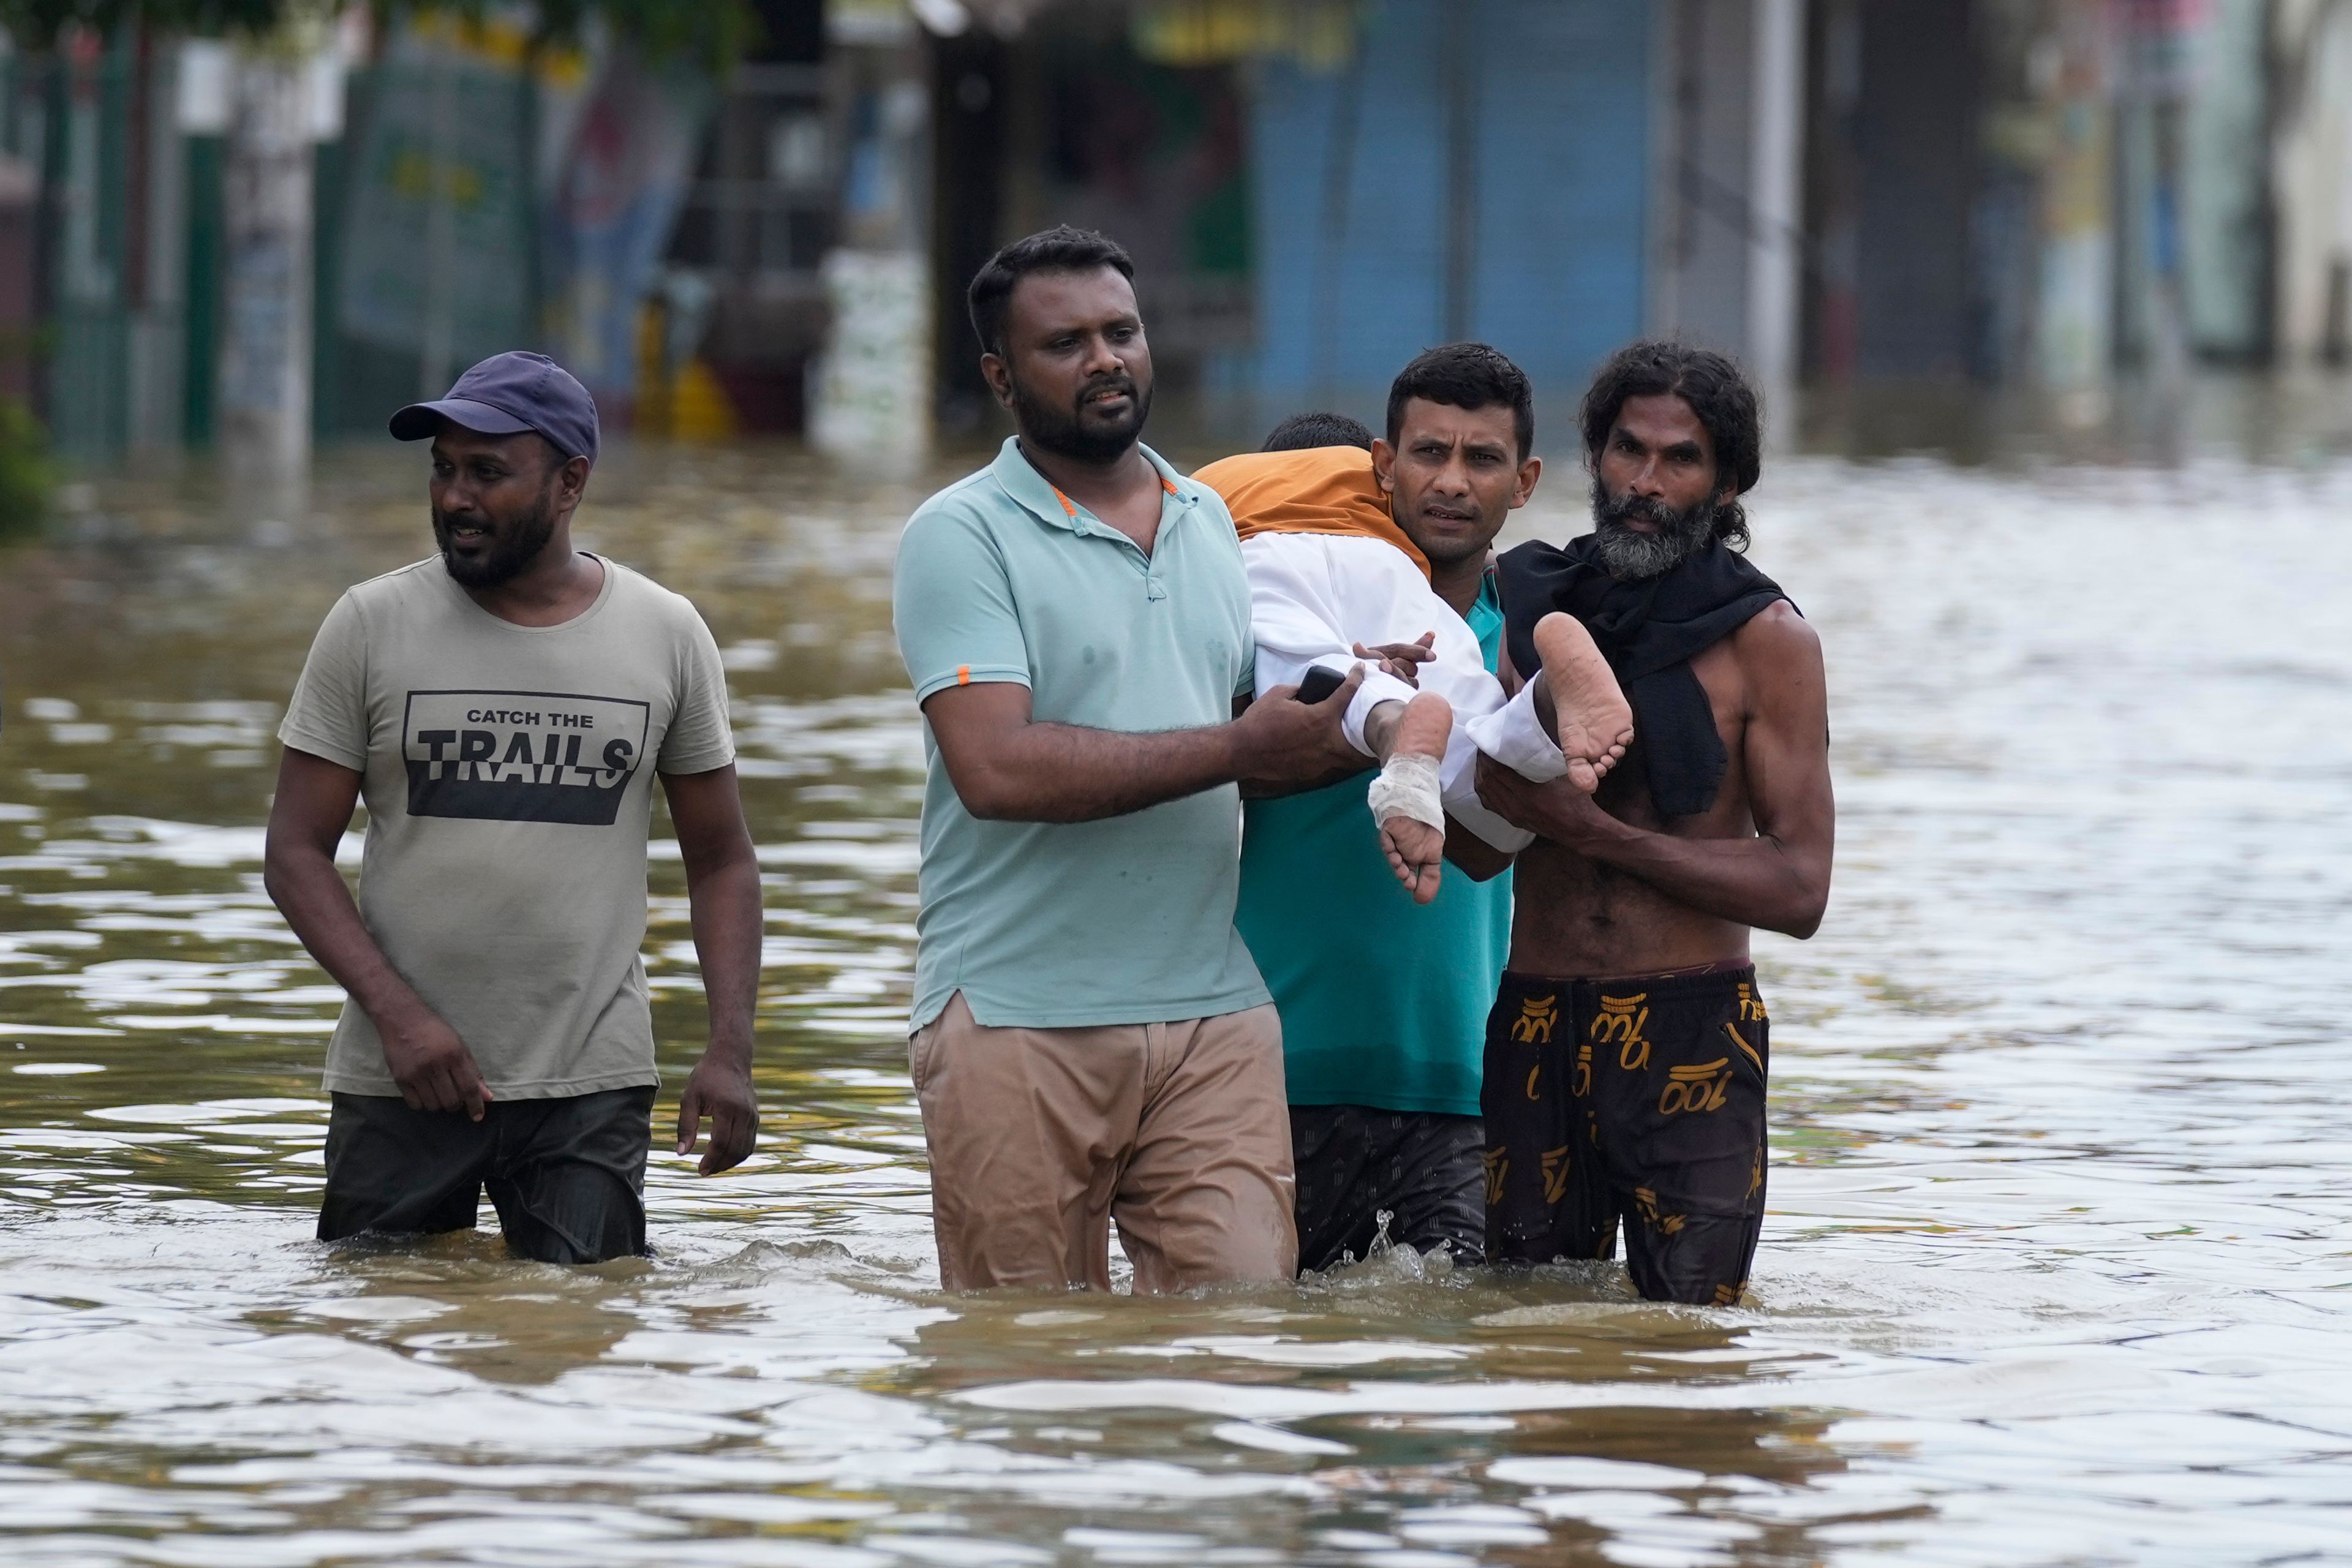
[(393, 1095), (334, 1095), (318, 1239), (473, 1229), (482, 1187), (506, 1246), (539, 1262), (644, 1253), (654, 1091), (492, 1100), (480, 1121)]

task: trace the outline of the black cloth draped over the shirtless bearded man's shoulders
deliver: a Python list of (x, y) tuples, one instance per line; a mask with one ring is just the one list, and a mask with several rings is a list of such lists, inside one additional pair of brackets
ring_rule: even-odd
[[(1531, 541), (1496, 562), (1503, 639), (1522, 679), (1536, 658), (1536, 623), (1562, 609), (1585, 623), (1632, 703), (1632, 750), (1649, 773), (1658, 816), (1698, 816), (1724, 783), (1724, 738), (1691, 656), (1788, 599), (1780, 585), (1719, 543), (1672, 571), (1621, 583), (1599, 559), (1599, 536), (1566, 545)], [(1795, 609), (1790, 599), (1790, 609)]]

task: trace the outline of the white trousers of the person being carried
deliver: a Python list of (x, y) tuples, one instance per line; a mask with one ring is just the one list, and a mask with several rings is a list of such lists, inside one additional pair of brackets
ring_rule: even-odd
[(1258, 696), (1296, 686), (1315, 665), (1338, 675), (1367, 665), (1345, 717), (1348, 745), (1367, 757), (1364, 719), (1381, 703), (1409, 701), (1416, 689), (1357, 658), (1355, 644), (1414, 642), (1437, 632), (1435, 658), (1421, 665), (1418, 689), (1454, 708), (1454, 733), (1437, 773), (1446, 811), (1501, 851), (1534, 842), (1531, 832), (1479, 802), (1477, 755), (1486, 752), (1538, 783), (1559, 778), (1569, 764), (1536, 719), (1534, 686), (1503, 701), (1503, 682), (1486, 670), (1477, 632), (1402, 550), (1348, 534), (1256, 534), (1242, 541), (1242, 564), (1249, 571), (1249, 632), (1258, 642)]

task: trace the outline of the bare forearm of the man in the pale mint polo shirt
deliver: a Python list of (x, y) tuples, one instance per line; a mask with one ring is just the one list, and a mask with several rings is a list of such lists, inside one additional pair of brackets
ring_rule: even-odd
[(1094, 823), (1235, 783), (1230, 724), (1120, 731), (1023, 724), (981, 778), (957, 780), (964, 806), (1007, 823)]

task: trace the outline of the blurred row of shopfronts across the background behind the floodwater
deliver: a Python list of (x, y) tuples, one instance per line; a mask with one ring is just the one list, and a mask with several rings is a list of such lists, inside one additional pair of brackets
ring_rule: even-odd
[(1056, 221), (1136, 254), (1164, 418), (1218, 442), (1376, 416), (1449, 339), (1548, 411), (1637, 334), (1700, 341), (1778, 435), (1884, 402), (1849, 388), (2096, 421), (2201, 364), (2352, 357), (2352, 0), (755, 9), (713, 75), (353, 7), (282, 99), (278, 228), (233, 45), (12, 49), (0, 395), (89, 461), (254, 400), (334, 440), (529, 343), (616, 428), (915, 458), (1000, 428), (962, 287)]

